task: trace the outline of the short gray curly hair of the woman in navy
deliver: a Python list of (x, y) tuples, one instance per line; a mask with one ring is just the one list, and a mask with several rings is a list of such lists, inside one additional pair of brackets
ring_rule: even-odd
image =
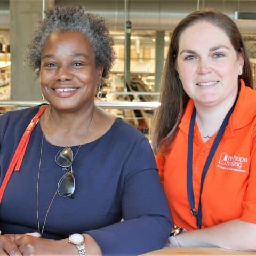
[(35, 34), (25, 52), (25, 63), (39, 76), (41, 52), (46, 38), (54, 31), (78, 31), (90, 41), (95, 54), (95, 63), (103, 67), (102, 77), (106, 78), (113, 65), (113, 38), (110, 37), (105, 19), (86, 12), (82, 5), (55, 6), (45, 11), (45, 18), (39, 22)]

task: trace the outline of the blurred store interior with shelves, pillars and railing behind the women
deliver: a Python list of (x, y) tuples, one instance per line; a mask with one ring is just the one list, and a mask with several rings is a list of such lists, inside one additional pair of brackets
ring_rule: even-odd
[[(45, 8), (75, 4), (106, 18), (115, 41), (116, 60), (98, 103), (126, 103), (108, 110), (149, 137), (172, 30), (190, 12), (214, 7), (234, 19), (249, 51), (256, 88), (256, 0), (0, 0), (1, 113), (22, 107), (19, 101), (33, 106), (42, 100), (38, 79), (23, 65), (23, 53)], [(10, 100), (17, 104), (4, 106)], [(134, 109), (127, 102), (149, 107)]]

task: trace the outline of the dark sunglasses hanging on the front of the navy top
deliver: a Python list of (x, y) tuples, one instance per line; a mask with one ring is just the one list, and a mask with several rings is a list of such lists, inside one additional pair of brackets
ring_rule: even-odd
[(55, 156), (55, 162), (63, 170), (67, 170), (58, 182), (58, 194), (63, 197), (70, 196), (74, 198), (76, 182), (72, 169), (73, 160), (73, 152), (69, 147), (62, 148)]

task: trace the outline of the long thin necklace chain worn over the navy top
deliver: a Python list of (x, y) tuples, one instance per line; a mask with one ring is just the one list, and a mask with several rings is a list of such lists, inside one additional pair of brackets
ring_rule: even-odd
[[(91, 124), (92, 124), (92, 119), (93, 119), (93, 116), (94, 116), (94, 109), (95, 109), (95, 106), (93, 106), (93, 112), (92, 112), (92, 117), (91, 117), (91, 119), (90, 119), (90, 123), (89, 123), (89, 125), (88, 125), (88, 127), (87, 127), (87, 129), (86, 129), (86, 131), (85, 131), (85, 133), (84, 133), (84, 135), (83, 135), (84, 138), (86, 137), (86, 135), (87, 135), (87, 133), (88, 133), (88, 131), (89, 131), (89, 129), (90, 129), (90, 126), (91, 126)], [(49, 115), (48, 115), (47, 120), (49, 119), (50, 113), (51, 113), (51, 106), (50, 106), (50, 109), (49, 109)], [(40, 157), (39, 157), (39, 166), (38, 166), (38, 175), (37, 175), (37, 185), (36, 185), (36, 216), (37, 216), (38, 233), (40, 234), (40, 237), (42, 237), (42, 235), (43, 235), (44, 227), (45, 227), (45, 223), (46, 223), (46, 219), (47, 219), (48, 213), (49, 213), (49, 211), (50, 211), (50, 209), (51, 209), (51, 206), (52, 206), (52, 203), (53, 203), (53, 201), (54, 201), (54, 198), (55, 198), (55, 196), (56, 196), (57, 193), (58, 193), (58, 188), (57, 188), (56, 191), (55, 191), (55, 193), (54, 193), (54, 195), (53, 195), (53, 197), (52, 197), (52, 199), (51, 199), (51, 202), (50, 202), (50, 204), (49, 204), (49, 206), (48, 206), (48, 208), (47, 208), (47, 211), (46, 211), (46, 213), (45, 213), (44, 222), (43, 222), (43, 227), (42, 227), (42, 230), (41, 230), (41, 232), (40, 232), (39, 211), (38, 211), (38, 187), (39, 187), (39, 177), (40, 177), (40, 172), (41, 172), (41, 161), (42, 161), (42, 152), (43, 152), (43, 142), (44, 142), (44, 134), (43, 134), (42, 140), (41, 140), (41, 150), (40, 150)], [(76, 155), (77, 155), (78, 151), (80, 150), (81, 146), (82, 146), (82, 144), (80, 144), (79, 147), (78, 147), (78, 149), (76, 150), (76, 154), (75, 154), (75, 156), (74, 156), (74, 158), (73, 158), (73, 161), (75, 160)]]

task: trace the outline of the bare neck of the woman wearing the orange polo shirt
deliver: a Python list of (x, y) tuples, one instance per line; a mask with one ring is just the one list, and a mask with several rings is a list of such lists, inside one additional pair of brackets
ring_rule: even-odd
[(219, 131), (223, 120), (235, 100), (236, 95), (227, 101), (221, 102), (220, 105), (212, 107), (202, 107), (195, 102), (196, 122), (204, 142)]

